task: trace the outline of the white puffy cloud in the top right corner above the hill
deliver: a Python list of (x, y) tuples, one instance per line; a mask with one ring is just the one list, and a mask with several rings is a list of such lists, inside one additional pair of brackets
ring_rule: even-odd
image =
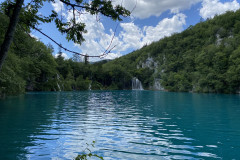
[(223, 14), (226, 11), (236, 11), (239, 8), (240, 4), (236, 0), (225, 3), (219, 0), (203, 0), (200, 16), (204, 19), (213, 18), (215, 15)]

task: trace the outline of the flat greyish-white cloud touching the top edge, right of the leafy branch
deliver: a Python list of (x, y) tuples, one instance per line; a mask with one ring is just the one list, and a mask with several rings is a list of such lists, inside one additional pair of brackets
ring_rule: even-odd
[(122, 4), (128, 10), (133, 10), (136, 18), (145, 19), (150, 16), (160, 16), (165, 11), (179, 13), (190, 8), (202, 0), (116, 0), (115, 4)]

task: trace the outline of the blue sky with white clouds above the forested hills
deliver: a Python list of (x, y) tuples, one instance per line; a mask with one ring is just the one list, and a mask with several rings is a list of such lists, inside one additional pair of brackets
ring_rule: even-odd
[[(77, 16), (77, 21), (85, 23), (88, 32), (83, 35), (85, 41), (81, 46), (68, 42), (53, 23), (42, 24), (38, 28), (62, 46), (81, 54), (101, 55), (110, 44), (111, 47), (116, 45), (104, 57), (114, 59), (146, 44), (179, 33), (202, 20), (240, 8), (240, 0), (114, 0), (113, 3), (122, 4), (130, 11), (134, 9), (131, 16), (121, 22), (114, 22), (102, 15), (93, 16), (83, 11), (83, 14)], [(55, 10), (65, 19), (72, 17), (72, 13), (59, 0), (55, 0), (55, 3), (46, 3), (39, 14), (47, 15), (51, 10)], [(59, 52), (59, 47), (37, 31), (32, 30), (31, 35), (45, 44), (52, 44), (54, 55)], [(62, 52), (66, 59), (73, 56), (64, 50)], [(90, 58), (90, 61), (98, 60), (102, 59)]]

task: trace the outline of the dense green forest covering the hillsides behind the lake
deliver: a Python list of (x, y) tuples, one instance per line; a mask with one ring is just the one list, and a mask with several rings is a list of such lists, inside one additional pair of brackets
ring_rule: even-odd
[[(0, 44), (8, 17), (0, 11)], [(144, 89), (177, 92), (240, 92), (240, 11), (190, 26), (112, 61), (64, 59), (59, 49), (30, 37), (17, 26), (0, 74), (0, 96), (28, 91)]]

